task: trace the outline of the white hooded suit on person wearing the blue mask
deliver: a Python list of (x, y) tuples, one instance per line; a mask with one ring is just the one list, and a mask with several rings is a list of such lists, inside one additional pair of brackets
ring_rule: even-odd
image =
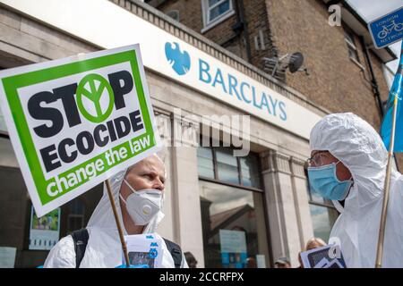
[[(339, 238), (347, 267), (374, 267), (388, 156), (381, 137), (355, 114), (330, 114), (313, 127), (310, 145), (312, 150), (330, 151), (354, 179), (330, 240)], [(391, 173), (382, 267), (403, 267), (403, 176), (395, 170)]]

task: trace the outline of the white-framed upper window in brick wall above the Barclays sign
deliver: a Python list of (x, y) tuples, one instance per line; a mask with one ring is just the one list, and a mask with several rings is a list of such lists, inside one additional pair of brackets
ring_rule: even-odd
[(232, 0), (201, 0), (203, 10), (204, 26), (210, 26), (211, 23), (224, 20), (233, 12)]

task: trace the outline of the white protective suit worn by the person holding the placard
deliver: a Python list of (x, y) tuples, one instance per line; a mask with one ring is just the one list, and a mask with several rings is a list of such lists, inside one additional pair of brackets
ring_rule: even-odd
[[(122, 223), (122, 211), (119, 202), (119, 192), (124, 179), (124, 172), (118, 172), (109, 180), (116, 202), (117, 214)], [(157, 225), (160, 223), (164, 214), (159, 211), (150, 223), (144, 228), (143, 233), (155, 233)], [(88, 245), (82, 257), (80, 268), (114, 268), (122, 265), (122, 245), (119, 240), (119, 235), (116, 227), (115, 217), (107, 196), (107, 187), (104, 183), (104, 195), (100, 199), (98, 206), (90, 217), (90, 222), (87, 225), (89, 231)], [(157, 233), (155, 233), (158, 235)], [(124, 230), (124, 235), (127, 232)], [(160, 237), (159, 237), (160, 238)], [(160, 238), (162, 240), (162, 238)], [(163, 241), (163, 240), (162, 240)], [(175, 268), (174, 259), (172, 258), (165, 241), (162, 245), (162, 267)], [(75, 251), (73, 238), (71, 235), (60, 240), (54, 248), (52, 248), (45, 261), (45, 268), (74, 268), (75, 267)], [(187, 268), (187, 264), (182, 254), (181, 268)]]

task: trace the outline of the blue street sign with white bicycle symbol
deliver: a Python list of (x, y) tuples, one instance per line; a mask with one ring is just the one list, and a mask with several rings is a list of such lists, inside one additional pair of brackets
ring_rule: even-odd
[(403, 38), (403, 7), (368, 24), (376, 48), (389, 46)]

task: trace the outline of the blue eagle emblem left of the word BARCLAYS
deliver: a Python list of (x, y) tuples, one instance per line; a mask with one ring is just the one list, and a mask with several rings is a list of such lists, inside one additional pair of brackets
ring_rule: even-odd
[(186, 51), (181, 52), (179, 44), (169, 43), (165, 44), (165, 55), (171, 67), (179, 75), (184, 75), (190, 69), (190, 56)]

